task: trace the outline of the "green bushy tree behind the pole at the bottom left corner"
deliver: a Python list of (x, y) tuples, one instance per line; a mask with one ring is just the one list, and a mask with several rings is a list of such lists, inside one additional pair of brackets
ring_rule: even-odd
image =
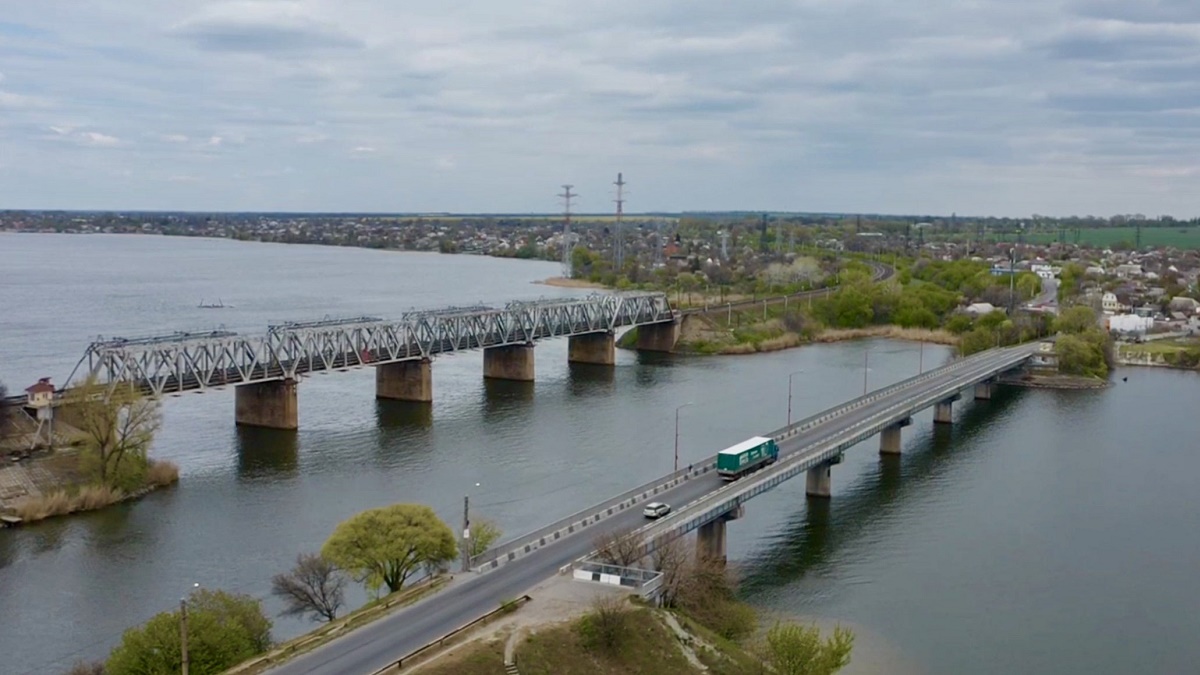
[[(179, 611), (164, 611), (130, 628), (109, 653), (108, 675), (179, 673)], [(265, 652), (271, 646), (271, 621), (254, 598), (224, 591), (199, 590), (188, 597), (188, 673), (215, 675)]]

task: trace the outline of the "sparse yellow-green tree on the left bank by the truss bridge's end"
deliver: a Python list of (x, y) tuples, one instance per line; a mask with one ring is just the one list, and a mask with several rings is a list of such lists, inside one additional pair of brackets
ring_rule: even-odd
[(84, 467), (106, 485), (140, 488), (146, 453), (162, 423), (158, 402), (128, 386), (110, 389), (89, 378), (67, 390), (65, 406), (83, 432)]

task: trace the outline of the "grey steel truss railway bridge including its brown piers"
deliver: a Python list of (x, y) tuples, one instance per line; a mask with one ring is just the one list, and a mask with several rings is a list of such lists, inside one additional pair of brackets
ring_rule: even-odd
[[(372, 366), (377, 398), (428, 402), (434, 357), (481, 350), (484, 377), (532, 382), (540, 340), (566, 338), (572, 363), (613, 365), (618, 328), (640, 327), (638, 350), (671, 351), (678, 318), (665, 293), (634, 291), (412, 311), (398, 319), (287, 322), (260, 335), (214, 330), (101, 339), (88, 347), (67, 388), (92, 380), (132, 384), (157, 398), (234, 387), (238, 424), (296, 429), (296, 384), (306, 375)], [(23, 398), (7, 402), (20, 405)]]

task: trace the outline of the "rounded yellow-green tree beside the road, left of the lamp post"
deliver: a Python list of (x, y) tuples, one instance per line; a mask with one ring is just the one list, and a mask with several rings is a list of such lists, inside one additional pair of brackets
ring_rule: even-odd
[(368, 591), (388, 586), (396, 592), (421, 566), (449, 562), (457, 549), (454, 532), (432, 508), (391, 504), (342, 521), (320, 552)]

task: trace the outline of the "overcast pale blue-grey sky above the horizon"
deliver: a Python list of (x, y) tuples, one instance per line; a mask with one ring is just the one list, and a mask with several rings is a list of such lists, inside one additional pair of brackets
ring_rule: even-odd
[(0, 208), (1200, 215), (1196, 0), (0, 0)]

